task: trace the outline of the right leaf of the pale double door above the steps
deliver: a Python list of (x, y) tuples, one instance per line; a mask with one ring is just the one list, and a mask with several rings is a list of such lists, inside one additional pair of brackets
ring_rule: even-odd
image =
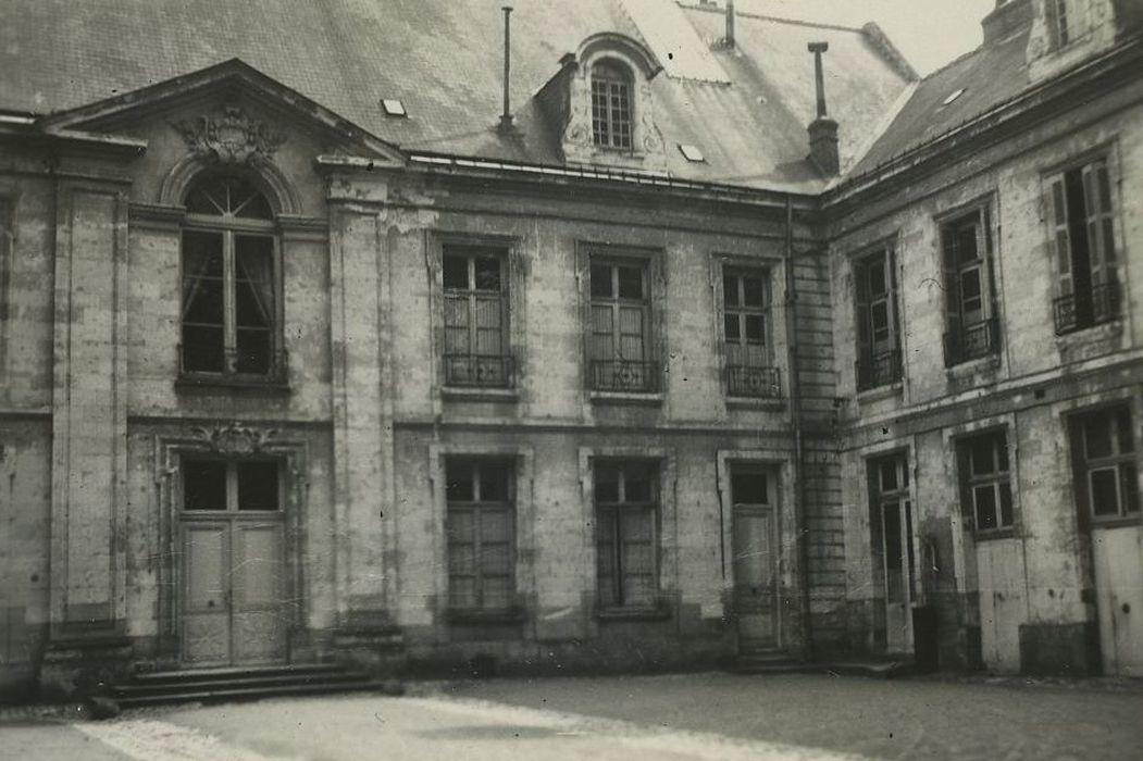
[(235, 521), (233, 527), (233, 636), (235, 660), (280, 659), (282, 527)]

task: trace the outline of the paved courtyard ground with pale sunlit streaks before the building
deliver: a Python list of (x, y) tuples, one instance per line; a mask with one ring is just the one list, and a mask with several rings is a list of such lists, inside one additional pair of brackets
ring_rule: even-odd
[[(17, 715), (18, 719), (18, 715)], [(1141, 686), (689, 674), (0, 721), (0, 759), (1143, 759)]]

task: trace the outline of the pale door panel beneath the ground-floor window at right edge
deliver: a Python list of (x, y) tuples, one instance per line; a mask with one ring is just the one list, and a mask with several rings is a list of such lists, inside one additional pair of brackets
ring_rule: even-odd
[(1143, 676), (1143, 528), (1093, 528), (1105, 674)]

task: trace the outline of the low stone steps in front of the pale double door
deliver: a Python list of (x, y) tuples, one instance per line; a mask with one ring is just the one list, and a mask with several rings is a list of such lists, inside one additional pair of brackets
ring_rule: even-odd
[(398, 695), (401, 686), (339, 664), (239, 666), (139, 673), (114, 684), (109, 697), (122, 708), (136, 708), (352, 691)]

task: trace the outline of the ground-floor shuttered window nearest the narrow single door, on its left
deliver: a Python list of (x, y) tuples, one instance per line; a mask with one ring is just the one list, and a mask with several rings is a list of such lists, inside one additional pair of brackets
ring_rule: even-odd
[(658, 602), (658, 467), (596, 464), (596, 555), (601, 608)]

